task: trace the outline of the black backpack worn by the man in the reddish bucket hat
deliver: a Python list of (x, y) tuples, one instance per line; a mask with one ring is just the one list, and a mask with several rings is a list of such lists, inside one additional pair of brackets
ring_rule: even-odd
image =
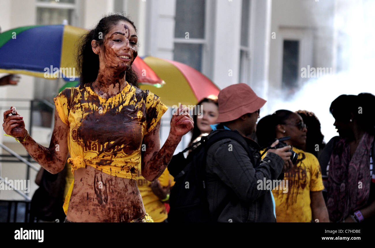
[[(223, 130), (209, 138), (203, 136), (200, 141), (174, 155), (168, 165), (168, 171), (175, 181), (169, 197), (168, 222), (216, 222), (226, 204), (234, 197), (234, 192), (226, 196), (210, 215), (205, 188), (207, 151), (214, 143), (225, 138), (231, 138), (240, 143), (248, 152), (254, 165), (249, 145), (237, 131)], [(200, 143), (199, 146), (190, 151), (185, 158), (183, 153), (198, 143)]]

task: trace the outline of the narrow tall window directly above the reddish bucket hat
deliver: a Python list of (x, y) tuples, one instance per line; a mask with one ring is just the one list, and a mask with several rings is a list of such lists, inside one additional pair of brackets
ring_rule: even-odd
[(250, 22), (250, 0), (242, 0), (241, 16), (241, 45), (240, 45), (240, 83), (248, 83), (250, 70), (250, 48), (249, 48), (249, 22)]

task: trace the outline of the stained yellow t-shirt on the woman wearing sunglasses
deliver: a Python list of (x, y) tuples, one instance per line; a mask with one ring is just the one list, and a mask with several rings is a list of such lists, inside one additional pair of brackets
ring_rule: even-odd
[(282, 185), (287, 186), (287, 190), (282, 190), (282, 185), (272, 190), (276, 204), (276, 221), (311, 222), (310, 192), (324, 189), (322, 172), (318, 159), (313, 154), (296, 147), (293, 147), (293, 151), (298, 154), (298, 160), (294, 168), (284, 174), (288, 186), (286, 181)]

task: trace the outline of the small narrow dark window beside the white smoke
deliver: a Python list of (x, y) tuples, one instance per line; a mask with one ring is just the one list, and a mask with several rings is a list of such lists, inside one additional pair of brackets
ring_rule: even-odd
[(282, 86), (293, 88), (297, 86), (299, 57), (299, 41), (284, 40), (282, 59)]

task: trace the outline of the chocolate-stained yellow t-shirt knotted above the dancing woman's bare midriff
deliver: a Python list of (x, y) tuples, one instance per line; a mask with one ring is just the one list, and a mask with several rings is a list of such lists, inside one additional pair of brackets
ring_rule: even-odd
[[(143, 137), (168, 108), (157, 95), (129, 83), (120, 94), (108, 99), (99, 97), (91, 84), (72, 89), (66, 88), (54, 98), (60, 119), (69, 126), (68, 163), (72, 173), (92, 166), (109, 175), (135, 180)], [(66, 211), (73, 184), (65, 199)]]

